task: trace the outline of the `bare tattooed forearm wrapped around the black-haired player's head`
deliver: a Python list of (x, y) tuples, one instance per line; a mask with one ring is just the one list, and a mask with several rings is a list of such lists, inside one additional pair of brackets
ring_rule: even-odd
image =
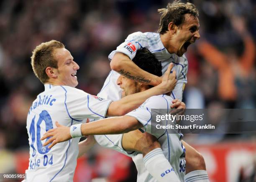
[(139, 68), (127, 55), (121, 52), (115, 53), (110, 62), (112, 70), (132, 80), (148, 84), (159, 85), (161, 78)]

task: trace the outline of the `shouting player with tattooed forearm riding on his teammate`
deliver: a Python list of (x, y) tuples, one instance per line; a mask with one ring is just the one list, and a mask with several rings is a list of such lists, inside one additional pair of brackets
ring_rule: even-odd
[[(146, 47), (150, 50), (157, 60), (161, 62), (162, 72), (167, 69), (170, 63), (174, 64), (173, 70), (177, 72), (177, 84), (172, 91), (172, 97), (182, 100), (182, 94), (187, 83), (188, 61), (184, 53), (190, 44), (200, 38), (199, 34), (199, 12), (195, 5), (186, 2), (174, 1), (167, 5), (167, 8), (159, 9), (162, 14), (158, 33), (154, 32), (135, 32), (126, 38), (125, 42), (110, 53), (109, 59), (112, 71), (108, 75), (102, 90), (97, 95), (99, 97), (111, 100), (119, 100), (122, 90), (116, 85), (119, 75), (136, 80), (148, 85), (158, 85), (160, 77), (150, 74), (136, 64), (132, 59), (135, 57), (137, 50)], [(129, 135), (130, 137), (128, 137)], [(138, 131), (125, 134), (125, 138), (135, 138)], [(105, 145), (104, 136), (96, 136), (100, 145)], [(145, 137), (146, 134), (145, 134)], [(103, 141), (102, 143), (100, 141)], [(136, 143), (136, 141), (133, 141)], [(194, 148), (186, 142), (182, 142), (186, 148), (186, 176), (188, 182), (207, 182), (208, 175), (206, 172), (205, 162)], [(133, 157), (133, 161), (142, 161)]]

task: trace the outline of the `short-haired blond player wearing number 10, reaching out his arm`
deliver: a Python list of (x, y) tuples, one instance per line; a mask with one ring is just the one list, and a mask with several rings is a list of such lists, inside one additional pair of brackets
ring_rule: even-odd
[(60, 143), (52, 149), (44, 146), (41, 134), (56, 127), (53, 121), (71, 126), (83, 123), (87, 118), (124, 115), (147, 98), (169, 92), (176, 83), (175, 73), (170, 74), (170, 66), (162, 83), (145, 92), (115, 102), (90, 95), (74, 88), (78, 84), (76, 73), (79, 66), (64, 45), (56, 40), (38, 45), (33, 50), (31, 65), (45, 90), (33, 101), (28, 112), (30, 158), (25, 182), (73, 180), (79, 138)]

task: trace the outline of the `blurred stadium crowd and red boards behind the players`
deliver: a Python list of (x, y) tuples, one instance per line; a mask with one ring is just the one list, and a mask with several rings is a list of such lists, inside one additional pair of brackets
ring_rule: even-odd
[[(189, 47), (187, 108), (256, 108), (256, 3), (193, 0), (201, 39)], [(136, 31), (156, 32), (166, 0), (0, 1), (0, 173), (28, 167), (26, 117), (44, 89), (30, 56), (41, 42), (59, 40), (80, 65), (78, 88), (96, 95), (107, 77), (108, 54)], [(256, 182), (255, 135), (185, 135), (205, 157), (211, 182)], [(74, 182), (92, 178), (134, 182), (129, 157), (95, 146), (79, 159)]]

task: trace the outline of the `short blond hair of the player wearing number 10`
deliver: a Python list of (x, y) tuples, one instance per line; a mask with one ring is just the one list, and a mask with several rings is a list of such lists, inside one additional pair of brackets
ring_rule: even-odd
[(54, 49), (56, 48), (65, 48), (65, 46), (59, 41), (51, 40), (36, 46), (32, 52), (31, 65), (33, 72), (42, 83), (49, 79), (45, 71), (46, 67), (58, 68), (58, 62), (54, 57)]

